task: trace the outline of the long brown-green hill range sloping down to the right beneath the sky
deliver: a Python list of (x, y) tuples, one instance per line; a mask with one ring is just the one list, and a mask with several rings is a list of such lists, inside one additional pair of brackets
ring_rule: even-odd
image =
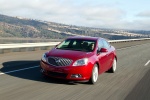
[(150, 31), (114, 30), (65, 25), (0, 14), (0, 37), (63, 39), (82, 35), (107, 39), (149, 37)]

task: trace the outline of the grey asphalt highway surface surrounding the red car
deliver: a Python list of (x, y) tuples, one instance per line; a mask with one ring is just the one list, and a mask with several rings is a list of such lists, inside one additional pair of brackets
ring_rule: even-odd
[(150, 42), (113, 45), (117, 71), (95, 85), (44, 79), (38, 65), (45, 51), (0, 54), (0, 100), (150, 100)]

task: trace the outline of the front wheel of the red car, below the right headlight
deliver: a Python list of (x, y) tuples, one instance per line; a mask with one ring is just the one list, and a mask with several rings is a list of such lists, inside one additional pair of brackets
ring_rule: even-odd
[(92, 75), (89, 80), (89, 83), (95, 84), (97, 82), (97, 79), (98, 79), (98, 66), (97, 64), (95, 64), (92, 70)]

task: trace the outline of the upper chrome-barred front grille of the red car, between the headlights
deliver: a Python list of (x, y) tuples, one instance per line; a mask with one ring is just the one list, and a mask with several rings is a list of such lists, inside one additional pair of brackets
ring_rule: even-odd
[(69, 66), (72, 60), (60, 57), (48, 57), (48, 63), (53, 66)]

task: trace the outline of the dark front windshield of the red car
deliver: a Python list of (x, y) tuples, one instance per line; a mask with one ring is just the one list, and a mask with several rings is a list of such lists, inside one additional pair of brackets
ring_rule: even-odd
[(94, 40), (67, 39), (59, 44), (57, 49), (92, 52), (95, 44)]

